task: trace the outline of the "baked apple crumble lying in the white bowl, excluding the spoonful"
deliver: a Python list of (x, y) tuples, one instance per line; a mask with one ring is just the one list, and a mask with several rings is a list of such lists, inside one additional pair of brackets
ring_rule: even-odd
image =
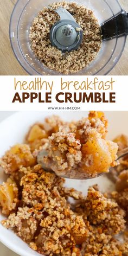
[[(65, 179), (44, 171), (36, 159), (40, 146), (63, 126), (69, 133), (79, 127), (76, 140), (80, 143), (92, 130), (98, 131), (102, 139), (107, 133), (107, 120), (101, 112), (90, 112), (88, 119), (70, 124), (52, 117), (31, 126), (26, 144), (12, 147), (1, 159), (1, 167), (8, 175), (0, 186), (0, 205), (7, 215), (2, 225), (43, 255), (127, 256), (128, 158), (121, 159), (116, 167), (117, 190), (111, 194), (101, 193), (98, 185), (88, 188), (87, 196), (67, 188)], [(120, 136), (114, 141), (120, 150), (128, 140), (124, 142)], [(75, 146), (79, 149), (77, 143)], [(120, 241), (122, 234), (124, 239)]]

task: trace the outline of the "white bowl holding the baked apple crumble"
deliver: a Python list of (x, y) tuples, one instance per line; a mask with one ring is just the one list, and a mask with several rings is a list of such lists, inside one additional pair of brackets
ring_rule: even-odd
[[(57, 114), (65, 120), (76, 120), (81, 117), (87, 116), (87, 112), (55, 112), (52, 113), (48, 111), (35, 111), (35, 112), (17, 112), (5, 119), (0, 124), (0, 157), (4, 154), (10, 146), (16, 143), (22, 143), (25, 133), (28, 131), (29, 126), (35, 121), (43, 121), (45, 117), (50, 116), (51, 114)], [(120, 133), (128, 133), (128, 112), (118, 111), (118, 112), (106, 112), (106, 117), (109, 121), (108, 127), (108, 138), (112, 139), (119, 135)], [(4, 181), (4, 174), (0, 172), (0, 182)], [(107, 180), (106, 177), (101, 176), (88, 181), (76, 181), (76, 180), (66, 180), (67, 187), (74, 187), (78, 190), (83, 191), (84, 194), (87, 193), (87, 188), (89, 185), (98, 184), (101, 191), (112, 190), (113, 184)], [(5, 219), (2, 214), (0, 215), (0, 221)], [(0, 241), (10, 248), (12, 251), (16, 252), (21, 256), (37, 256), (40, 255), (32, 249), (29, 248), (25, 242), (23, 242), (14, 232), (5, 229), (0, 225)], [(1, 254), (1, 253), (0, 253)]]

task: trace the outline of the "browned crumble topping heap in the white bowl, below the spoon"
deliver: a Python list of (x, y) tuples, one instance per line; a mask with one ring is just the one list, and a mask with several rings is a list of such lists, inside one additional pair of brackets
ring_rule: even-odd
[(125, 229), (125, 210), (94, 188), (85, 197), (64, 181), (40, 165), (29, 169), (21, 179), (22, 207), (2, 224), (44, 255), (125, 255), (127, 244), (113, 236)]

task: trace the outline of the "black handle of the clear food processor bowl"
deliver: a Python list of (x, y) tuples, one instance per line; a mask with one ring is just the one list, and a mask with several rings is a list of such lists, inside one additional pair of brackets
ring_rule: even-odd
[(113, 37), (128, 35), (128, 14), (121, 11), (117, 16), (110, 18), (101, 24), (101, 34), (103, 40), (109, 40)]

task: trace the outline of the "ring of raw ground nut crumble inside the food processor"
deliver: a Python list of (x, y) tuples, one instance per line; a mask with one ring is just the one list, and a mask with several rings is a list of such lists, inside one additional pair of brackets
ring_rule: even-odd
[[(59, 7), (67, 9), (73, 15), (83, 32), (80, 47), (65, 54), (53, 47), (49, 39), (50, 29), (60, 20), (54, 11)], [(43, 65), (64, 74), (76, 73), (87, 67), (101, 47), (100, 25), (93, 11), (84, 5), (65, 1), (53, 3), (50, 8), (44, 7), (34, 19), (29, 37), (31, 49)]]

